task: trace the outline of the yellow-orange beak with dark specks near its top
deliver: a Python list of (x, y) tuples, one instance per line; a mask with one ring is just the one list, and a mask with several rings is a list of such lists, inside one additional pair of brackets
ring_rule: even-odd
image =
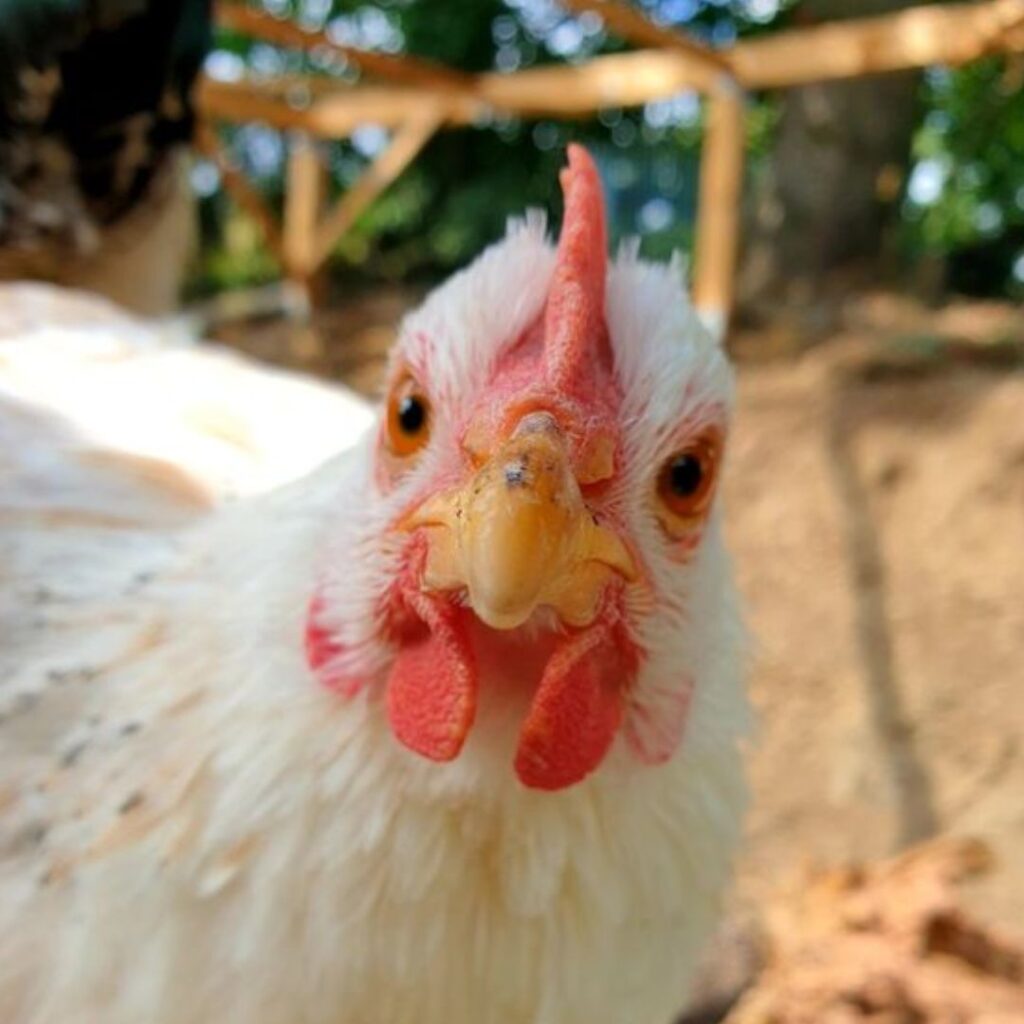
[(426, 502), (402, 527), (427, 527), (423, 586), (465, 588), (495, 629), (522, 626), (541, 606), (587, 626), (608, 582), (637, 574), (622, 539), (588, 511), (550, 413), (525, 416), (464, 487)]

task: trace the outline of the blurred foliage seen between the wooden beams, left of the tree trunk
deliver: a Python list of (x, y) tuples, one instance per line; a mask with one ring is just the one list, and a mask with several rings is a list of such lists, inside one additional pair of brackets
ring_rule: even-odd
[[(263, 0), (271, 13), (328, 27), (338, 38), (385, 51), (402, 50), (466, 71), (514, 71), (552, 61), (580, 61), (623, 49), (593, 15), (571, 17), (554, 0)], [(763, 31), (785, 8), (778, 0), (656, 0), (647, 4), (667, 24), (716, 43), (737, 32)], [(284, 53), (221, 32), (213, 74), (244, 69), (284, 74), (325, 71), (352, 76), (327, 55)], [(764, 147), (772, 110), (760, 104), (751, 118), (752, 140)], [(557, 211), (557, 170), (567, 141), (586, 141), (614, 184), (613, 241), (640, 234), (653, 255), (688, 250), (696, 202), (700, 105), (684, 93), (639, 111), (609, 110), (581, 122), (496, 118), (476, 128), (436, 137), (399, 180), (340, 242), (335, 267), (349, 275), (435, 275), (464, 263), (498, 238), (507, 218), (529, 206)], [(351, 140), (330, 145), (333, 190), (355, 179), (385, 142), (368, 126)], [(257, 125), (232, 134), (236, 155), (279, 208), (284, 145)], [(266, 272), (266, 260), (248, 251), (245, 232), (226, 230), (238, 217), (215, 191), (210, 168), (200, 168), (208, 284), (237, 285)]]

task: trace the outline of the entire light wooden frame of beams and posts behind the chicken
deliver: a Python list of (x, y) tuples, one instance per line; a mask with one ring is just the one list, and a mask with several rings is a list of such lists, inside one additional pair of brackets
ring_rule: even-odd
[[(221, 2), (218, 22), (280, 46), (328, 47), (370, 78), (349, 86), (304, 80), (306, 100), (294, 102), (295, 79), (217, 82), (199, 86), (208, 121), (263, 121), (298, 132), (301, 155), (289, 163), (284, 230), (234, 168), (209, 127), (198, 136), (217, 162), (225, 187), (261, 223), (286, 273), (300, 281), (328, 258), (358, 215), (416, 158), (434, 132), (493, 114), (575, 118), (602, 108), (634, 106), (682, 90), (702, 93), (708, 131), (701, 158), (694, 295), (698, 308), (723, 327), (732, 307), (743, 167), (743, 90), (778, 89), (928, 65), (963, 65), (990, 53), (1024, 52), (1024, 0), (912, 7), (894, 14), (793, 29), (743, 41), (725, 50), (650, 22), (622, 0), (563, 0), (573, 11), (594, 11), (607, 29), (645, 47), (595, 57), (579, 67), (534, 68), (514, 74), (467, 75), (410, 56), (369, 53), (288, 22)], [(360, 124), (393, 130), (390, 145), (367, 168), (326, 220), (312, 182), (309, 137), (345, 138)], [(293, 195), (293, 188), (296, 195)]]

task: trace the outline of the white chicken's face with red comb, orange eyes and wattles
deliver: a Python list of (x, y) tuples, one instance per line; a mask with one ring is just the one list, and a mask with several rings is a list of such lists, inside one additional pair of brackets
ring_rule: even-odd
[(357, 633), (329, 580), (307, 632), (321, 679), (383, 677), (395, 737), (434, 761), (460, 755), (481, 695), (522, 690), (514, 768), (542, 790), (621, 734), (641, 762), (671, 757), (707, 655), (694, 625), (731, 612), (724, 358), (677, 265), (626, 253), (609, 272), (578, 146), (562, 185), (555, 252), (527, 223), (404, 325), (358, 540), (380, 554), (374, 612)]

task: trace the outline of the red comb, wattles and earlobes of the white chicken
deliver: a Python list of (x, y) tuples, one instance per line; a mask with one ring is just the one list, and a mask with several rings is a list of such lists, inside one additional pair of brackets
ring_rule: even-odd
[[(606, 238), (596, 169), (570, 146), (562, 173), (565, 219), (543, 316), (501, 359), (485, 392), (463, 424), (466, 468), (487, 458), (529, 412), (550, 412), (566, 440), (585, 497), (608, 481), (588, 483), (595, 445), (621, 451), (612, 353), (604, 323)], [(382, 458), (378, 479), (388, 485), (394, 467)], [(436, 482), (436, 481), (435, 481)], [(623, 532), (624, 523), (608, 525)], [(386, 705), (395, 737), (433, 761), (450, 761), (463, 748), (477, 708), (479, 672), (473, 637), (479, 625), (458, 595), (421, 586), (426, 540), (414, 535), (403, 568), (384, 598), (381, 620), (395, 648)], [(598, 767), (628, 713), (641, 653), (623, 610), (623, 585), (609, 586), (594, 622), (563, 629), (544, 643), (546, 662), (521, 726), (515, 771), (527, 786), (559, 790)], [(318, 624), (318, 598), (310, 607), (306, 651), (310, 667), (332, 689), (351, 694), (358, 683), (333, 671), (343, 653)], [(477, 629), (474, 631), (474, 625)], [(484, 638), (486, 639), (486, 638)], [(631, 746), (648, 763), (671, 756), (685, 721), (688, 691), (676, 701), (678, 728), (646, 728), (643, 710), (627, 721)], [(639, 724), (638, 724), (639, 723)]]

